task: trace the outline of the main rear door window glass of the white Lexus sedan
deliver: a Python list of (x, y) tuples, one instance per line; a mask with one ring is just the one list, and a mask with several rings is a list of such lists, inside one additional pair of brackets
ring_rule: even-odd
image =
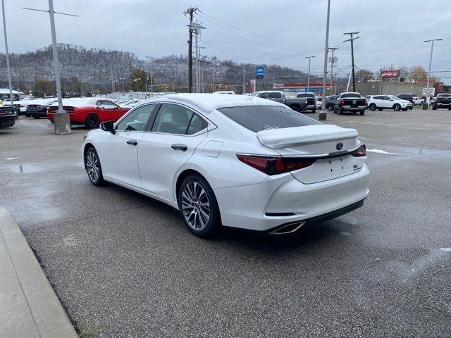
[(186, 134), (194, 113), (177, 104), (162, 104), (156, 115), (152, 132)]

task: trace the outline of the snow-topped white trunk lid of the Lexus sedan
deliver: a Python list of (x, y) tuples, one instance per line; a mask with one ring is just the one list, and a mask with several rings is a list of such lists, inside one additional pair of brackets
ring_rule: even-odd
[(311, 184), (352, 175), (362, 169), (358, 158), (350, 153), (359, 148), (355, 129), (336, 125), (307, 125), (257, 132), (259, 142), (287, 158), (312, 158), (307, 168), (292, 175), (302, 183)]

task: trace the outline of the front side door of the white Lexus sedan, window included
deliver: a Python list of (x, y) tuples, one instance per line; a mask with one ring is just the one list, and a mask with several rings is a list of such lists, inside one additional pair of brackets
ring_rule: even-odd
[(101, 140), (100, 163), (104, 177), (131, 187), (141, 187), (137, 149), (156, 104), (140, 106), (116, 126), (116, 133), (106, 132)]

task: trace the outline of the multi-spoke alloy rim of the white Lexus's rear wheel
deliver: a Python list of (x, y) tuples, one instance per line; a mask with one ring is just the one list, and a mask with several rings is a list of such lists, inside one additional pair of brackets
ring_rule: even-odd
[(210, 219), (210, 202), (198, 182), (188, 182), (182, 191), (181, 207), (186, 223), (192, 230), (204, 230)]

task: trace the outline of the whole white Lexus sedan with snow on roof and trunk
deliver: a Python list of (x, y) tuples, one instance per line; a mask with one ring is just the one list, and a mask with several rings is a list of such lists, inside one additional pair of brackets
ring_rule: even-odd
[(221, 226), (286, 234), (363, 205), (369, 168), (357, 136), (271, 100), (173, 94), (88, 132), (82, 156), (92, 184), (163, 201), (197, 236)]

